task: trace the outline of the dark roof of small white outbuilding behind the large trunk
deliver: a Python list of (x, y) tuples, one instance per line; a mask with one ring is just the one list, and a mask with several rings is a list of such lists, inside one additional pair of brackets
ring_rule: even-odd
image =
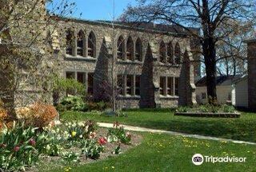
[[(217, 86), (231, 86), (234, 84), (234, 82), (238, 81), (240, 78), (242, 78), (242, 75), (231, 75), (231, 76), (218, 76), (216, 78)], [(206, 77), (203, 77), (196, 82), (195, 86), (206, 86)]]

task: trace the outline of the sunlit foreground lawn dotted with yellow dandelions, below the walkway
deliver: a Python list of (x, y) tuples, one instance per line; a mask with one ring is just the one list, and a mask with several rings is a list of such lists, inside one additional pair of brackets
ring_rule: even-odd
[[(70, 171), (255, 171), (256, 146), (182, 138), (166, 134), (144, 133), (141, 145), (118, 157), (84, 166), (70, 166)], [(204, 162), (194, 166), (194, 154), (214, 157), (245, 157), (246, 162)], [(48, 166), (48, 165), (47, 165)], [(50, 171), (64, 171), (66, 167)]]

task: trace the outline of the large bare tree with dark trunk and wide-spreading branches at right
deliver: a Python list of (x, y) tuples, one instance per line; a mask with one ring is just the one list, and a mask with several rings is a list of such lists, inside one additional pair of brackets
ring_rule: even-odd
[[(217, 102), (216, 94), (216, 49), (223, 38), (233, 30), (219, 33), (222, 27), (233, 22), (253, 21), (255, 3), (253, 0), (138, 0), (139, 5), (129, 6), (121, 20), (126, 22), (167, 22), (187, 30), (200, 40), (206, 66), (208, 101)], [(202, 34), (194, 34), (190, 27), (200, 28)]]

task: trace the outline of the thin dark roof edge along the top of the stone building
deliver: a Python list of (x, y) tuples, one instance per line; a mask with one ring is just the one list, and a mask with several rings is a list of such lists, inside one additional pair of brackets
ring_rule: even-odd
[[(104, 26), (110, 26), (110, 27), (113, 26), (112, 23), (91, 21), (91, 20), (86, 20), (86, 19), (81, 19), (81, 18), (56, 17), (56, 16), (52, 16), (52, 15), (50, 15), (50, 18), (59, 18), (63, 21), (70, 20), (70, 21), (74, 21), (74, 22), (83, 22), (83, 23), (87, 23), (87, 24), (91, 24), (91, 25), (104, 25)], [(137, 30), (137, 31), (141, 31), (141, 32), (150, 32), (153, 34), (166, 34), (166, 35), (174, 35), (174, 36), (180, 36), (180, 37), (188, 36), (188, 34), (178, 34), (178, 33), (174, 33), (174, 32), (168, 32), (168, 31), (165, 32), (165, 31), (160, 31), (160, 30), (149, 30), (149, 29), (143, 29), (143, 28), (139, 28), (139, 27), (124, 26), (124, 25), (120, 25), (120, 24), (116, 24), (116, 23), (114, 23), (114, 26), (117, 26), (119, 28), (123, 28), (126, 30)]]

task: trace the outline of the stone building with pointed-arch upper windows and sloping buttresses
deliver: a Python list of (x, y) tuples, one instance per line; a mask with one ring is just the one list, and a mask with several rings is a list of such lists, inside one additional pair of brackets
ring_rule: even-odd
[(198, 46), (184, 30), (74, 18), (56, 21), (52, 46), (59, 74), (84, 83), (87, 97), (109, 100), (114, 82), (120, 108), (196, 103), (194, 75), (200, 66), (193, 61), (199, 58), (194, 53)]

